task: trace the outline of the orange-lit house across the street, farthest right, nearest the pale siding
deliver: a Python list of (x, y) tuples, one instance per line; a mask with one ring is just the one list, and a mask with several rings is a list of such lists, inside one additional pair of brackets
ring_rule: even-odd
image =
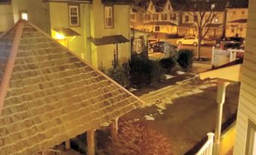
[(238, 35), (245, 38), (247, 28), (248, 8), (227, 9), (227, 37)]

